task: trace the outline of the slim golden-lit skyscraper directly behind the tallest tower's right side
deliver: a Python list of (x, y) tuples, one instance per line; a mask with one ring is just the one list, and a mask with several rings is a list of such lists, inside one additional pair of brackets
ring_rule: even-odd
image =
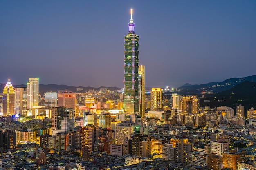
[(139, 66), (139, 114), (142, 118), (145, 117), (145, 66), (140, 65)]

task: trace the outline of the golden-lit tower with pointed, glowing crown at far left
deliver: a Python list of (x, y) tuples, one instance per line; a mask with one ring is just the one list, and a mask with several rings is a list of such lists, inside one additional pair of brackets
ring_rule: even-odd
[(8, 79), (3, 91), (3, 116), (8, 117), (15, 114), (15, 92)]

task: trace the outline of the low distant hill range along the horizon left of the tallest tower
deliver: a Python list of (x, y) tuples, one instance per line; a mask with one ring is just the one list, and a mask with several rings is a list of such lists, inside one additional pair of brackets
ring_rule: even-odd
[[(0, 83), (0, 91), (3, 91), (4, 89), (4, 86), (5, 84), (3, 83)], [(27, 87), (27, 85), (24, 85), (24, 84), (21, 84), (21, 85), (13, 85), (14, 88), (16, 87)], [(83, 86), (78, 86), (78, 87), (75, 87), (75, 86), (67, 86), (67, 85), (57, 85), (57, 84), (39, 84), (39, 92), (41, 94), (44, 94), (46, 92), (49, 92), (49, 91), (53, 91), (53, 92), (56, 92), (56, 91), (72, 91), (74, 93), (84, 93), (90, 89), (93, 89), (93, 90), (100, 90), (101, 88), (106, 88), (108, 90), (111, 90), (111, 91), (116, 91), (116, 90), (121, 90), (121, 88), (118, 88), (118, 87), (104, 87), (104, 86), (101, 86), (101, 87), (83, 87)]]

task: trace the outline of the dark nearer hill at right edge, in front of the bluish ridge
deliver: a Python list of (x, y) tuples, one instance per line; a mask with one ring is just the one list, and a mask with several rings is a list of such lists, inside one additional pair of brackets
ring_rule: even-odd
[(256, 82), (244, 81), (233, 88), (200, 99), (200, 106), (230, 106), (236, 112), (236, 106), (245, 106), (245, 115), (250, 108), (256, 109)]

